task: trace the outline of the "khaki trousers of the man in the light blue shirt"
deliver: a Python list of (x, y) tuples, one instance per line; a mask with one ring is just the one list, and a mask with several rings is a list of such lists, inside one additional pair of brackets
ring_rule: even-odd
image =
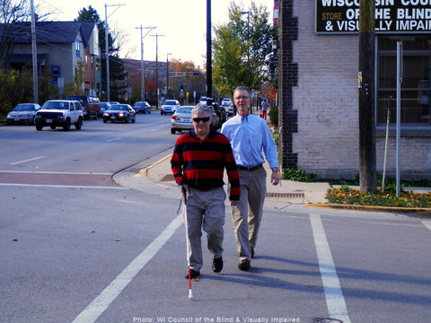
[(251, 260), (251, 247), (256, 246), (267, 194), (267, 172), (240, 170), (240, 202), (231, 207), (233, 231), (240, 260)]

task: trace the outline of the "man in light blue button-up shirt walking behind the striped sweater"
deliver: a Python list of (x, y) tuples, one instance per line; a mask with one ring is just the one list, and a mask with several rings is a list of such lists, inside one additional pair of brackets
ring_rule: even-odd
[(247, 87), (239, 86), (233, 92), (238, 114), (226, 121), (222, 134), (231, 142), (235, 162), (240, 172), (241, 198), (231, 206), (233, 230), (241, 270), (249, 270), (258, 240), (263, 203), (267, 194), (265, 158), (271, 168), (271, 183), (280, 182), (278, 175), (277, 146), (263, 118), (250, 113), (251, 98)]

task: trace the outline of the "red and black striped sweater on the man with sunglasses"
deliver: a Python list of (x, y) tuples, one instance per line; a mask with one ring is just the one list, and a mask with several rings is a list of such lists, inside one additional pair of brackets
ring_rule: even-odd
[(240, 175), (225, 135), (210, 131), (204, 140), (194, 130), (180, 135), (173, 148), (171, 168), (178, 185), (201, 189), (222, 187), (226, 169), (231, 184), (229, 199), (240, 199)]

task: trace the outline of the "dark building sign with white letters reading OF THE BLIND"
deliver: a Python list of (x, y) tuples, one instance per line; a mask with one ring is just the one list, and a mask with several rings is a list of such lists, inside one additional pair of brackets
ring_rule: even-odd
[[(359, 32), (359, 0), (316, 0), (316, 33)], [(431, 0), (375, 0), (375, 33), (431, 32)]]

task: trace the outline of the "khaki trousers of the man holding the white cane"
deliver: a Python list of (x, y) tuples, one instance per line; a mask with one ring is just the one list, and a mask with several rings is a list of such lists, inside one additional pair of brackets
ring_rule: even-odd
[(213, 258), (222, 257), (224, 238), (224, 188), (207, 191), (190, 188), (187, 194), (190, 268), (200, 271), (203, 265), (201, 237), (207, 232), (207, 248)]

